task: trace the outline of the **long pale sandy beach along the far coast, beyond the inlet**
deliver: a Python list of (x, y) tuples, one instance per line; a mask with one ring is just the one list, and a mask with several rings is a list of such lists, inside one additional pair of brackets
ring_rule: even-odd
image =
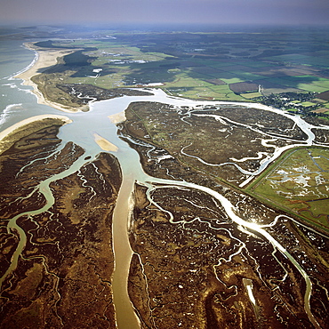
[(76, 112), (76, 108), (68, 108), (64, 107), (63, 105), (59, 103), (55, 103), (50, 100), (44, 99), (44, 95), (42, 92), (39, 91), (37, 88), (37, 85), (31, 80), (33, 76), (36, 76), (40, 73), (42, 73), (46, 68), (51, 67), (52, 65), (57, 64), (57, 60), (60, 57), (63, 57), (65, 55), (68, 55), (72, 52), (76, 52), (77, 49), (65, 49), (65, 50), (58, 50), (58, 49), (46, 49), (37, 47), (34, 43), (25, 43), (24, 44), (28, 49), (33, 50), (37, 52), (37, 60), (36, 63), (31, 67), (28, 68), (26, 71), (20, 73), (17, 76), (14, 76), (16, 78), (20, 78), (24, 80), (24, 85), (30, 85), (33, 87), (33, 92), (36, 94), (37, 102), (39, 104), (48, 105), (52, 108), (57, 108), (60, 111), (73, 113)]

